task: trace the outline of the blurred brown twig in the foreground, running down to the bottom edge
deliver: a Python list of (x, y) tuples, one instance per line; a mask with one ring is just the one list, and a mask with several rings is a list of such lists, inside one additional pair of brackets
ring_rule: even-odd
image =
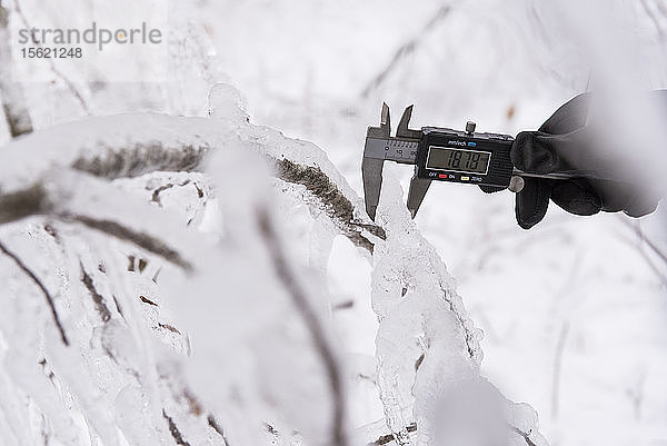
[(342, 371), (340, 370), (336, 359), (334, 347), (327, 339), (323, 327), (310, 303), (308, 301), (308, 297), (302, 285), (299, 283), (289, 266), (289, 261), (286, 258), (283, 248), (266, 209), (258, 210), (257, 220), (260, 235), (267, 246), (269, 256), (271, 257), (276, 276), (282, 283), (286, 291), (291, 297), (297, 310), (301, 314), (303, 323), (312, 336), (315, 348), (321, 357), (326, 369), (330, 385), (331, 402), (334, 405), (331, 420), (331, 444), (337, 446), (346, 446), (348, 445), (348, 439), (345, 429)]

